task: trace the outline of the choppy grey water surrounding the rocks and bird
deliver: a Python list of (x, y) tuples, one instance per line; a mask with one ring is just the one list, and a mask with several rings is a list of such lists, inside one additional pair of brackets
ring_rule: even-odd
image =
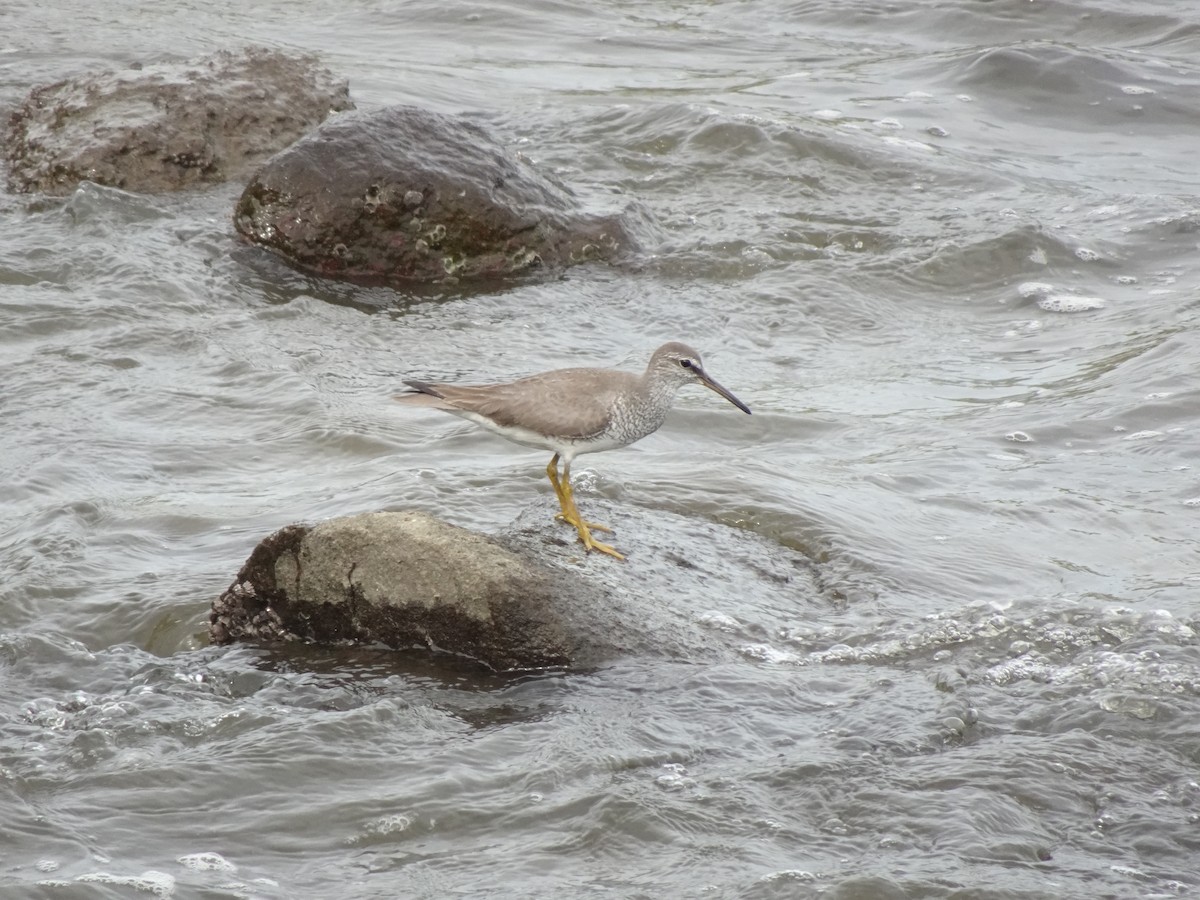
[[(404, 296), (238, 245), (236, 185), (0, 196), (5, 896), (1200, 890), (1194, 4), (17, 0), (0, 32), (5, 108), (318, 50), (655, 223), (632, 269)], [(670, 338), (755, 415), (685, 395), (581, 503), (815, 560), (821, 596), (691, 611), (736, 662), (206, 646), (283, 524), (545, 500), (544, 458), (401, 414), (400, 377)]]

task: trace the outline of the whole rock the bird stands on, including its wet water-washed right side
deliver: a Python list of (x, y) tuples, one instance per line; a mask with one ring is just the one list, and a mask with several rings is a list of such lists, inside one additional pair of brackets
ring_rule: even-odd
[(289, 526), (262, 541), (214, 601), (210, 635), (383, 643), (496, 671), (589, 668), (622, 656), (752, 653), (737, 623), (710, 614), (724, 590), (748, 580), (763, 604), (793, 613), (829, 601), (810, 560), (758, 535), (592, 505), (624, 526), (628, 563), (584, 554), (542, 504), (498, 539), (424, 512)]

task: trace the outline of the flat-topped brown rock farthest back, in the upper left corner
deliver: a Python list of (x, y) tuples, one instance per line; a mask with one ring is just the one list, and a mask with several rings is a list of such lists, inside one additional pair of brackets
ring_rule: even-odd
[(72, 78), (35, 88), (12, 114), (8, 187), (161, 193), (244, 178), (353, 108), (346, 82), (316, 58), (260, 48)]

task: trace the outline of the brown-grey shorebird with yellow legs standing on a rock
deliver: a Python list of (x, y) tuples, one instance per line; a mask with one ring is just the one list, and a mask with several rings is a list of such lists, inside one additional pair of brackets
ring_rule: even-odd
[(575, 505), (575, 457), (628, 446), (653, 434), (676, 394), (689, 384), (702, 384), (750, 414), (750, 407), (709, 377), (696, 350), (676, 341), (659, 347), (641, 374), (616, 368), (557, 368), (504, 384), (404, 384), (412, 390), (396, 400), (406, 406), (442, 409), (516, 444), (553, 451), (546, 474), (562, 509), (554, 518), (575, 528), (584, 550), (617, 559), (625, 557), (592, 536), (592, 532), (611, 534), (612, 529), (586, 521)]

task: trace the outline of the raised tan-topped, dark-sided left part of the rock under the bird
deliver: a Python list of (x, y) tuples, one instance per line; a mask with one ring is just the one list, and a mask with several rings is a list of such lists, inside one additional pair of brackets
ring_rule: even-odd
[(556, 611), (562, 580), (421, 512), (289, 526), (251, 553), (214, 602), (212, 640), (382, 642), (494, 670), (572, 664), (586, 641)]

